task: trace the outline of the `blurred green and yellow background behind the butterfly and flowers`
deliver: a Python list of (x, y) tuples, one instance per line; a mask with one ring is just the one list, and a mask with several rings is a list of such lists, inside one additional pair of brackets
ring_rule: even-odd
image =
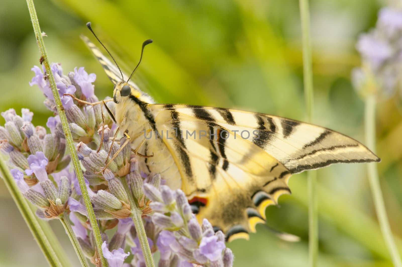
[[(297, 0), (36, 0), (51, 62), (64, 73), (84, 66), (97, 75), (99, 98), (111, 96), (112, 84), (86, 49), (80, 34), (85, 23), (130, 72), (142, 41), (145, 51), (134, 81), (160, 103), (213, 105), (304, 120), (301, 33)], [(375, 25), (383, 2), (310, 1), (314, 122), (364, 140), (364, 103), (353, 90), (350, 72), (360, 64), (355, 50), (359, 33)], [(91, 37), (92, 38), (92, 37)], [(93, 39), (93, 38), (92, 38)], [(25, 2), (0, 3), (0, 111), (27, 107), (33, 123), (52, 114), (44, 97), (28, 82), (39, 65)], [(400, 99), (379, 103), (377, 154), (381, 188), (402, 253), (402, 113)], [(4, 124), (3, 118), (0, 124)], [(0, 266), (45, 266), (32, 235), (0, 181)], [(258, 225), (250, 240), (228, 244), (235, 266), (307, 266), (308, 215), (306, 177), (291, 178), (292, 195), (267, 209), (267, 224), (300, 236), (289, 243)], [(364, 164), (340, 164), (318, 171), (319, 266), (391, 266), (379, 232)], [(78, 266), (67, 236), (51, 222), (64, 249)]]

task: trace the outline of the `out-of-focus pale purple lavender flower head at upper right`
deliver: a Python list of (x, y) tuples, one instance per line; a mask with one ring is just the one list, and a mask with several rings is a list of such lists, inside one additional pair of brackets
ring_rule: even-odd
[(362, 66), (352, 70), (357, 92), (391, 97), (401, 81), (402, 10), (382, 8), (376, 27), (359, 36), (356, 49), (362, 58)]

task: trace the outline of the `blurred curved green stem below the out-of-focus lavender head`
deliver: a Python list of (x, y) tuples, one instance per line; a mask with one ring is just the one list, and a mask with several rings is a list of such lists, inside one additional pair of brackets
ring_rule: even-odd
[[(375, 96), (369, 95), (365, 101), (365, 133), (366, 145), (371, 151), (375, 150)], [(395, 267), (402, 267), (401, 257), (396, 248), (395, 240), (392, 236), (390, 223), (388, 222), (387, 212), (385, 209), (384, 199), (379, 184), (377, 171), (377, 163), (367, 163), (367, 172), (369, 176), (369, 185), (375, 206), (375, 212), (379, 222), (382, 235), (388, 251), (391, 254), (392, 262)]]

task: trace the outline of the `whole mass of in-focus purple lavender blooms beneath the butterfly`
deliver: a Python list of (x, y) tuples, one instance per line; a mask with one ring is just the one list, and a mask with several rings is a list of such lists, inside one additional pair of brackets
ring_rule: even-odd
[[(45, 106), (55, 113), (47, 74), (37, 66), (32, 70), (35, 76), (29, 84), (39, 87), (47, 97)], [(99, 105), (92, 107), (76, 101), (98, 101), (92, 84), (96, 75), (88, 74), (81, 67), (74, 68), (74, 72), (66, 76), (60, 64), (52, 64), (51, 70), (73, 140), (78, 143), (76, 148), (84, 166), (86, 189), (96, 219), (102, 226), (102, 252), (109, 266), (145, 266), (139, 237), (130, 217), (134, 208), (131, 204), (142, 212), (151, 252), (160, 250), (158, 266), (190, 267), (193, 263), (232, 266), (233, 254), (225, 247), (224, 234), (214, 233), (206, 220), (202, 226), (199, 225), (183, 191), (172, 191), (164, 185), (159, 174), (146, 174), (139, 170), (130, 146), (125, 146), (116, 154), (126, 138), (116, 142), (110, 140), (117, 126), (109, 115), (105, 114), (103, 123)], [(64, 95), (66, 93), (76, 99)], [(113, 112), (114, 103), (108, 102), (107, 105)], [(44, 127), (35, 127), (31, 123), (31, 111), (22, 109), (21, 113), (22, 116), (17, 115), (14, 109), (1, 113), (6, 124), (0, 126), (0, 152), (10, 158), (9, 165), (12, 166), (11, 173), (16, 184), (25, 197), (38, 207), (40, 218), (52, 219), (68, 214), (84, 255), (97, 264), (99, 253), (90, 231), (78, 179), (71, 170), (70, 156), (65, 155), (66, 142), (59, 116), (56, 114), (48, 118), (46, 126), (51, 134), (47, 134)], [(97, 152), (95, 149), (100, 144), (100, 151)], [(115, 155), (111, 161), (109, 150)], [(107, 158), (108, 166), (103, 170)], [(65, 213), (68, 209), (69, 212)], [(108, 241), (104, 231), (115, 227), (117, 230)], [(125, 253), (128, 245), (134, 255), (131, 264), (124, 263), (130, 255)]]

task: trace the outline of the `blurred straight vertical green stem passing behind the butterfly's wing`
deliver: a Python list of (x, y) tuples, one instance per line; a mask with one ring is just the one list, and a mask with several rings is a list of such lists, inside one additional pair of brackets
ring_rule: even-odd
[[(306, 115), (309, 122), (313, 117), (313, 71), (310, 40), (310, 12), (308, 0), (299, 0), (301, 32), (303, 38), (303, 80)], [(317, 203), (317, 175), (315, 171), (307, 173), (308, 191), (308, 230), (309, 230), (309, 260), (310, 266), (317, 266), (318, 260), (318, 203)]]

